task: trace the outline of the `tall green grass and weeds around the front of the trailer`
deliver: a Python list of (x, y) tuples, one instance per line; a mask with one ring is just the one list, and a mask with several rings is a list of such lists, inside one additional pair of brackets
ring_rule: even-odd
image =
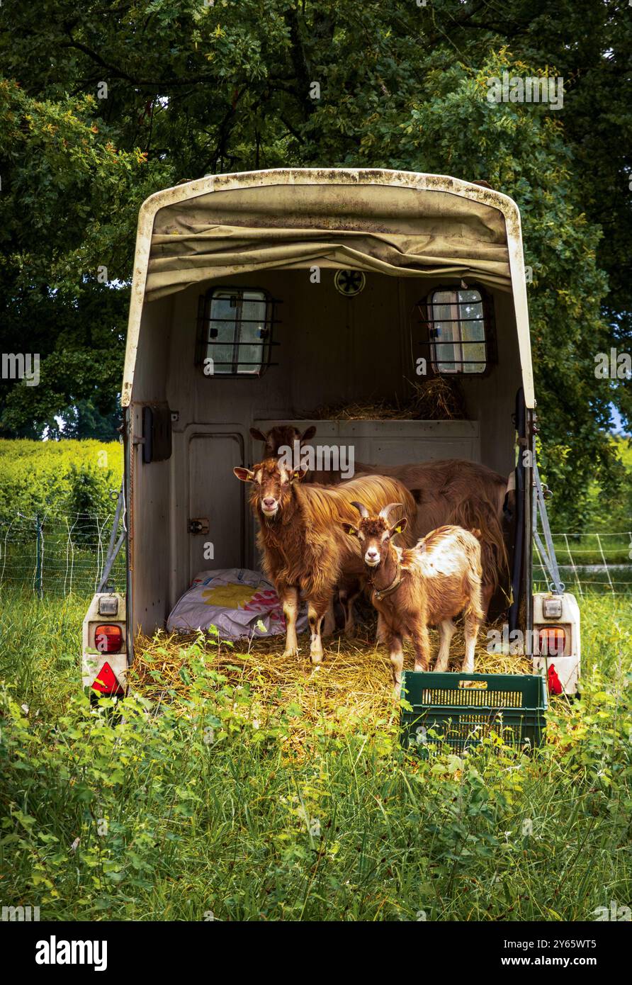
[(250, 689), (197, 645), (186, 699), (127, 698), (120, 721), (79, 691), (85, 608), (2, 602), (3, 905), (353, 921), (590, 920), (630, 904), (628, 600), (585, 600), (582, 697), (553, 704), (541, 752), (492, 738), (430, 761), (388, 723), (334, 736), (323, 721), (296, 749), (299, 709), (253, 720)]

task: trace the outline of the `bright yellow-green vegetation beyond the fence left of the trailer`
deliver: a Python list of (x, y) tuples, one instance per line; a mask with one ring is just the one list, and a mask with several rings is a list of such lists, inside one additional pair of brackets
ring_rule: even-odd
[(0, 517), (111, 513), (122, 472), (118, 441), (0, 439)]

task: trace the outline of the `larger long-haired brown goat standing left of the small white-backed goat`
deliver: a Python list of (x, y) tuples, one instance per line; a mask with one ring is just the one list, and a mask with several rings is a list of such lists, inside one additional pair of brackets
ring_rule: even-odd
[(300, 593), (307, 601), (310, 657), (312, 663), (319, 664), (323, 659), (323, 617), (331, 605), (334, 587), (357, 581), (364, 574), (359, 543), (345, 535), (340, 519), (355, 516), (352, 501), (358, 496), (375, 512), (399, 500), (412, 528), (415, 505), (411, 493), (383, 476), (353, 479), (341, 486), (302, 486), (304, 473), (286, 469), (276, 458), (266, 459), (252, 470), (236, 468), (233, 472), (242, 482), (252, 483), (250, 505), (259, 519), (257, 545), (284, 610), (284, 656), (297, 652)]

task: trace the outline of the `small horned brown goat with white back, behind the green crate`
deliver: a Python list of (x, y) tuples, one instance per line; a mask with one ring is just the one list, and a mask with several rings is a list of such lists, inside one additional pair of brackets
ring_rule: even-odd
[(361, 502), (353, 505), (359, 521), (341, 523), (343, 530), (361, 546), (369, 572), (371, 602), (378, 612), (381, 635), (389, 648), (396, 693), (402, 685), (404, 651), (402, 643), (410, 636), (414, 647), (415, 671), (427, 671), (430, 641), (428, 624), (438, 625), (439, 655), (435, 671), (448, 669), (450, 641), (455, 631), (453, 617), (465, 614), (466, 654), (462, 670), (474, 672), (476, 635), (483, 614), (480, 606), (479, 531), (462, 527), (439, 527), (410, 549), (393, 544), (395, 534), (404, 532), (408, 518), (393, 525), (388, 513), (399, 503), (391, 503), (377, 515)]

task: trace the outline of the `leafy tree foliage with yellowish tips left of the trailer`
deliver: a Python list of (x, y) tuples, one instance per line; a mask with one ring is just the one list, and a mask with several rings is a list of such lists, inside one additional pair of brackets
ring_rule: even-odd
[(40, 357), (37, 386), (3, 381), (0, 434), (55, 435), (78, 408), (87, 424), (117, 413), (131, 217), (162, 178), (95, 117), (94, 96), (34, 99), (0, 79), (0, 350)]

